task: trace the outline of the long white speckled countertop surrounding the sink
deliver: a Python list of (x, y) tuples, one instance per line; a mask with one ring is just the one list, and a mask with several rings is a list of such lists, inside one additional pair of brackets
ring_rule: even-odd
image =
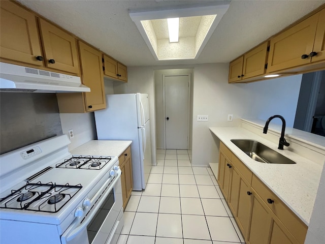
[[(313, 210), (322, 166), (241, 127), (210, 127), (233, 153), (266, 184), (308, 226)], [(265, 164), (247, 156), (231, 139), (254, 139), (296, 162), (296, 164)]]

